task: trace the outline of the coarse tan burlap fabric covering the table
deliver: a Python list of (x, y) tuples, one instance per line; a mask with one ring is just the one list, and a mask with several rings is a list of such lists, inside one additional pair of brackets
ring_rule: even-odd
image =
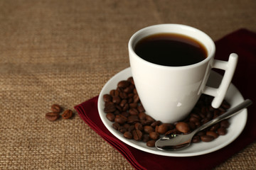
[[(0, 1), (0, 169), (132, 169), (75, 113), (46, 120), (53, 103), (72, 108), (129, 67), (140, 28), (183, 23), (213, 40), (256, 32), (256, 1)], [(255, 169), (256, 143), (216, 169)]]

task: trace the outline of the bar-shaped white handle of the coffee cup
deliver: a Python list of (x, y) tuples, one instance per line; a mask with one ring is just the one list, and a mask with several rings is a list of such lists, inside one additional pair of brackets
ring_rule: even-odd
[(221, 60), (213, 60), (212, 68), (223, 69), (225, 70), (225, 74), (223, 76), (222, 81), (220, 82), (220, 86), (218, 89), (205, 86), (203, 89), (203, 94), (208, 94), (210, 96), (214, 96), (211, 105), (213, 108), (219, 108), (223, 99), (225, 98), (225, 94), (228, 91), (228, 87), (230, 86), (230, 82), (233, 78), (233, 74), (235, 72), (235, 67), (238, 64), (238, 55), (235, 53), (230, 54), (228, 62)]

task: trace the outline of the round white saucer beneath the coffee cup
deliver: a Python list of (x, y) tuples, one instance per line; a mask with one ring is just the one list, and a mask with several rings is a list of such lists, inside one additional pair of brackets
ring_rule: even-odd
[[(144, 152), (149, 152), (151, 154), (159, 154), (169, 157), (191, 157), (201, 154), (208, 154), (210, 152), (214, 152), (218, 149), (221, 149), (227, 145), (229, 145), (231, 142), (233, 142), (242, 132), (242, 130), (245, 128), (246, 120), (247, 120), (247, 109), (243, 109), (241, 113), (238, 115), (233, 116), (230, 118), (230, 127), (228, 128), (227, 135), (220, 136), (217, 139), (213, 140), (212, 142), (200, 142), (195, 143), (191, 145), (191, 147), (188, 147), (186, 149), (180, 150), (180, 151), (174, 151), (174, 152), (166, 152), (161, 151), (159, 149), (156, 149), (155, 147), (147, 147), (145, 142), (137, 142), (135, 140), (127, 140), (123, 137), (122, 133), (114, 130), (112, 128), (112, 122), (110, 120), (107, 120), (106, 113), (104, 113), (104, 104), (103, 101), (103, 95), (109, 94), (110, 90), (117, 88), (117, 83), (121, 80), (126, 80), (128, 77), (131, 77), (131, 69), (127, 68), (119, 72), (118, 74), (114, 75), (109, 81), (107, 81), (107, 84), (102, 88), (102, 91), (100, 92), (99, 100), (98, 100), (98, 111), (100, 113), (100, 118), (106, 128), (112, 132), (112, 134), (117, 137), (119, 140), (122, 140), (122, 142), (126, 143), (127, 145), (130, 145), (132, 147), (135, 147), (137, 149), (140, 149)], [(210, 86), (218, 86), (218, 83), (222, 79), (222, 76), (216, 72), (211, 72), (210, 78), (208, 81), (208, 84)], [(228, 93), (225, 96), (225, 100), (228, 101), (231, 104), (231, 107), (237, 105), (238, 103), (244, 101), (244, 98), (240, 94), (240, 91), (233, 85), (230, 84), (230, 87), (228, 89)]]

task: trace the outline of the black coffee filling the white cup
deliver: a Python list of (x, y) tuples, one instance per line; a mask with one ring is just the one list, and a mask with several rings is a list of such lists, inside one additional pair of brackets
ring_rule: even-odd
[(142, 59), (164, 66), (186, 66), (201, 62), (207, 50), (201, 42), (186, 35), (160, 33), (139, 40), (134, 51)]

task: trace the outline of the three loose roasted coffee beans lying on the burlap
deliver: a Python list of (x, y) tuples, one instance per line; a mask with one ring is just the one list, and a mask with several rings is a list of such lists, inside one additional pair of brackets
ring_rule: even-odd
[[(63, 108), (61, 108), (61, 106), (58, 104), (53, 104), (50, 110), (52, 112), (46, 113), (46, 119), (50, 121), (55, 121), (55, 120), (58, 120), (58, 118), (60, 118), (60, 113), (63, 111)], [(72, 115), (73, 115), (73, 111), (71, 111), (70, 109), (67, 109), (62, 113), (61, 116), (63, 119), (70, 119)]]

